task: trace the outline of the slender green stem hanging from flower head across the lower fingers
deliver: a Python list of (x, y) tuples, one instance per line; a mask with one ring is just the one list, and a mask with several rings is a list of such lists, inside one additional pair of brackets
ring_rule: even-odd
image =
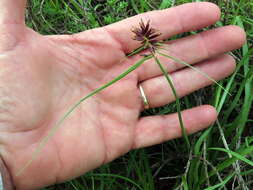
[(183, 123), (183, 119), (182, 119), (182, 114), (181, 114), (181, 109), (180, 109), (179, 97), (178, 97), (178, 95), (177, 95), (176, 89), (175, 89), (175, 87), (174, 87), (174, 85), (173, 85), (172, 80), (171, 80), (170, 77), (169, 77), (168, 72), (165, 70), (165, 68), (164, 68), (163, 65), (161, 64), (160, 60), (156, 57), (156, 55), (155, 55), (153, 52), (152, 52), (152, 55), (153, 55), (153, 57), (154, 57), (156, 63), (157, 63), (158, 66), (160, 67), (161, 71), (163, 72), (163, 74), (164, 74), (166, 80), (168, 81), (169, 86), (170, 86), (170, 88), (172, 89), (172, 92), (173, 92), (173, 94), (174, 94), (174, 96), (175, 96), (176, 104), (177, 104), (178, 119), (179, 119), (180, 127), (181, 127), (181, 130), (182, 130), (182, 135), (183, 135), (183, 137), (184, 137), (184, 139), (185, 139), (185, 141), (186, 141), (186, 144), (187, 144), (188, 149), (190, 150), (191, 145), (190, 145), (190, 141), (189, 141), (189, 139), (188, 139), (188, 136), (187, 136), (187, 133), (186, 133), (186, 130), (185, 130), (185, 127), (184, 127), (184, 123)]

